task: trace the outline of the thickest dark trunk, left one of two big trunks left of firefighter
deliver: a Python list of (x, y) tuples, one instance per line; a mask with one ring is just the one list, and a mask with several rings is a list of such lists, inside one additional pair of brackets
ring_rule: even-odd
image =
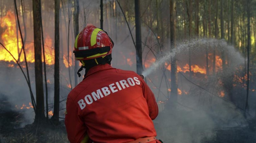
[(33, 22), (34, 22), (34, 57), (35, 57), (35, 85), (36, 85), (36, 113), (35, 123), (45, 120), (42, 49), (41, 49), (41, 7), (40, 0), (33, 0)]

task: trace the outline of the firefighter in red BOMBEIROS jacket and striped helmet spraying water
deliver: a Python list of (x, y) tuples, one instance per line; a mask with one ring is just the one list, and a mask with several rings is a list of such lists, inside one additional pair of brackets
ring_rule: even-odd
[(133, 71), (111, 66), (113, 41), (88, 25), (76, 36), (74, 54), (85, 75), (66, 102), (65, 126), (71, 143), (160, 143), (152, 120), (155, 96)]

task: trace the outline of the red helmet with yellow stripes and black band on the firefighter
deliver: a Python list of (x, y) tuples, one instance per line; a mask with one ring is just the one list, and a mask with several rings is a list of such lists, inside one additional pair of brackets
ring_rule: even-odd
[(111, 54), (113, 46), (105, 31), (88, 25), (76, 36), (74, 53), (76, 60), (89, 60)]

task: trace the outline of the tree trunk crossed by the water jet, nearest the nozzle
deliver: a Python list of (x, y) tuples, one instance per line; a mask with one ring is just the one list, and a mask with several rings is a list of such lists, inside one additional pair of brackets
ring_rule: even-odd
[[(170, 0), (170, 46), (171, 50), (176, 47), (176, 0)], [(169, 99), (169, 107), (176, 107), (175, 102), (178, 98), (178, 74), (177, 61), (173, 57), (171, 63), (171, 96)]]

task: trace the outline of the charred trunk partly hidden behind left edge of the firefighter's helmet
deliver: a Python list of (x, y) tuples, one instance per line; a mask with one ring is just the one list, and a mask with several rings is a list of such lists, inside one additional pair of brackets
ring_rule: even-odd
[[(74, 18), (74, 35), (75, 35), (75, 38), (76, 36), (79, 34), (79, 0), (74, 0), (74, 14), (73, 14), (73, 18)], [(79, 66), (79, 62), (74, 60), (74, 63), (75, 63), (75, 73), (77, 72), (78, 70), (78, 66)], [(77, 75), (75, 74), (75, 86), (77, 85)]]

